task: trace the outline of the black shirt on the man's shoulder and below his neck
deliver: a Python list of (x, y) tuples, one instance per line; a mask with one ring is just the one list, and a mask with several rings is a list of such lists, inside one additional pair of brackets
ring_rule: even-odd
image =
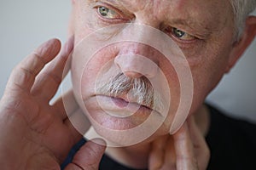
[[(211, 122), (207, 133), (207, 144), (211, 158), (207, 170), (255, 170), (256, 169), (256, 125), (224, 116), (221, 111), (208, 105)], [(73, 146), (61, 169), (71, 162), (76, 151), (85, 143), (81, 139)], [(135, 170), (125, 167), (107, 155), (102, 157), (101, 170)]]

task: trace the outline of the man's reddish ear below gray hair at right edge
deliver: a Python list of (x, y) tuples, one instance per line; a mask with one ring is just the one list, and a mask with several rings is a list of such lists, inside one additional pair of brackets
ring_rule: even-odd
[(240, 59), (241, 55), (246, 51), (247, 47), (253, 42), (256, 36), (256, 16), (249, 16), (246, 20), (246, 26), (240, 40), (234, 43), (234, 47), (230, 52), (229, 65), (226, 68), (226, 72), (236, 64), (236, 61)]

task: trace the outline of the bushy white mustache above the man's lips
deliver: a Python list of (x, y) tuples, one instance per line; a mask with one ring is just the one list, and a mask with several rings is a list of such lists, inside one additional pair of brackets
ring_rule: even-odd
[(131, 78), (119, 73), (109, 82), (100, 84), (96, 92), (116, 98), (129, 94), (133, 102), (155, 111), (162, 111), (164, 106), (160, 94), (154, 90), (147, 77)]

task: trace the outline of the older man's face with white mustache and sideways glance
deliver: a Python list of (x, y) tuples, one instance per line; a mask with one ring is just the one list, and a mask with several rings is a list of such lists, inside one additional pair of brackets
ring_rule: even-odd
[[(153, 136), (169, 133), (186, 84), (181, 84), (176, 70), (179, 65), (174, 65), (161, 49), (170, 45), (173, 55), (179, 56), (180, 51), (188, 62), (185, 69), (193, 77), (193, 84), (187, 87), (193, 92), (188, 99), (193, 100), (191, 107), (185, 102), (191, 114), (230, 64), (233, 26), (231, 6), (226, 0), (75, 1), (71, 30), (79, 52), (74, 48), (72, 76), (74, 92), (81, 99), (79, 105), (86, 108), (96, 131), (107, 139), (121, 141), (125, 137), (116, 137), (113, 130), (132, 129), (149, 116), (153, 121), (146, 127), (162, 122)], [(165, 33), (170, 42), (149, 27)], [(116, 37), (132, 35), (134, 41), (117, 38), (119, 41), (109, 44)], [(158, 48), (152, 47), (148, 37), (157, 41)], [(136, 42), (136, 38), (145, 41)], [(96, 47), (95, 43), (101, 48), (87, 52), (94, 48), (88, 49), (90, 45), (86, 44)], [(188, 115), (182, 114), (183, 119)]]

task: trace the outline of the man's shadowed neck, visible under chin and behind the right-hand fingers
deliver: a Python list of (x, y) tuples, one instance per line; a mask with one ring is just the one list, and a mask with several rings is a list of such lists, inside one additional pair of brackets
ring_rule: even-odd
[[(207, 106), (202, 105), (194, 116), (195, 123), (199, 127), (202, 135), (206, 136), (210, 126), (210, 116)], [(145, 143), (122, 148), (109, 147), (106, 150), (106, 154), (113, 160), (118, 161), (127, 167), (143, 169), (148, 167), (149, 151), (150, 143)]]

